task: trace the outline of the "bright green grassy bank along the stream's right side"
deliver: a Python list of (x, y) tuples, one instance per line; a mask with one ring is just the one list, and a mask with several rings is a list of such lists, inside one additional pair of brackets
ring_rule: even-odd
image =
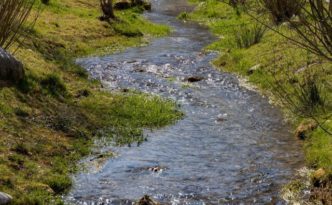
[[(314, 73), (319, 94), (324, 101), (324, 106), (317, 106), (314, 114), (324, 129), (331, 130), (332, 120), (328, 117), (332, 113), (332, 64), (294, 46), (271, 30), (258, 28), (259, 24), (245, 12), (236, 11), (220, 1), (192, 0), (191, 2), (197, 4), (195, 11), (182, 13), (179, 18), (207, 25), (219, 37), (219, 40), (206, 48), (220, 53), (213, 62), (214, 65), (223, 71), (236, 73), (255, 85), (263, 94), (268, 95), (274, 104), (283, 108), (286, 119), (294, 125), (294, 131), (304, 130), (298, 137), (304, 140), (307, 165), (315, 170), (322, 168), (324, 174), (320, 176), (320, 184), (317, 186), (325, 188), (329, 186), (325, 194), (331, 194), (331, 186), (325, 183), (331, 184), (332, 178), (332, 136), (319, 126), (313, 125), (316, 123), (312, 119), (292, 112), (295, 108), (281, 103), (279, 97), (280, 89), (292, 93), (294, 86), (303, 81), (307, 73)], [(265, 16), (265, 19), (268, 18)], [(274, 28), (286, 34), (293, 34), (287, 24)], [(252, 30), (259, 29), (262, 29), (261, 34), (256, 32), (251, 33), (255, 35), (254, 37), (250, 36)], [(296, 106), (302, 106), (301, 101), (295, 102)], [(319, 196), (319, 193), (313, 196), (315, 197), (324, 198)], [(325, 196), (326, 199), (332, 200)]]

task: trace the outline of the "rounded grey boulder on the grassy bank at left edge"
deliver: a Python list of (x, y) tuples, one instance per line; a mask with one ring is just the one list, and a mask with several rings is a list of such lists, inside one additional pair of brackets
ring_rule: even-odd
[(0, 85), (17, 83), (24, 77), (23, 65), (7, 51), (0, 48)]

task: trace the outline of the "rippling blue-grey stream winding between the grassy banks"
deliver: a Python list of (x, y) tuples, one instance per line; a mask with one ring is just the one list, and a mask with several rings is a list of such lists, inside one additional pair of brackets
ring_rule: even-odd
[[(155, 0), (146, 14), (173, 28), (169, 37), (123, 53), (79, 59), (110, 90), (171, 98), (184, 119), (146, 131), (141, 146), (112, 147), (118, 156), (74, 176), (73, 204), (132, 204), (145, 194), (166, 204), (284, 204), (282, 184), (302, 165), (299, 143), (266, 98), (215, 70), (207, 29), (176, 20), (185, 1)], [(187, 82), (195, 77), (198, 82)], [(151, 167), (162, 170), (151, 171)]]

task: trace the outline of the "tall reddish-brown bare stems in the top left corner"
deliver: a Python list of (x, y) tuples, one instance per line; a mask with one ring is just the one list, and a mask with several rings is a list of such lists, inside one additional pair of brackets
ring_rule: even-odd
[(0, 47), (7, 49), (22, 33), (20, 29), (26, 22), (35, 0), (0, 1)]

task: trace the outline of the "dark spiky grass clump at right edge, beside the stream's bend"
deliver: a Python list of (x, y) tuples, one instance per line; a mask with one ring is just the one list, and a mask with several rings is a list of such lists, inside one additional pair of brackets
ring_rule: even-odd
[(291, 73), (284, 69), (271, 74), (275, 76), (275, 82), (271, 86), (281, 103), (295, 116), (312, 119), (322, 130), (331, 134), (326, 127), (326, 119), (320, 119), (322, 116), (330, 116), (331, 108), (331, 101), (327, 99), (327, 92), (331, 87), (326, 84), (322, 74), (309, 67), (302, 73)]

